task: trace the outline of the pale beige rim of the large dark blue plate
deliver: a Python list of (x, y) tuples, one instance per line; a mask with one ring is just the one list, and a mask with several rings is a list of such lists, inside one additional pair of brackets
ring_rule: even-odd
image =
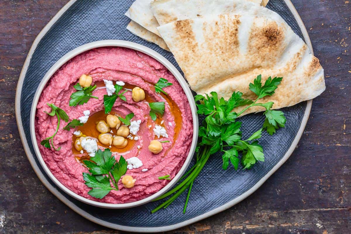
[[(247, 190), (245, 193), (241, 194), (240, 196), (238, 196), (237, 198), (231, 200), (230, 202), (225, 203), (224, 205), (217, 207), (213, 210), (210, 210), (204, 214), (198, 215), (192, 219), (188, 219), (186, 221), (180, 222), (180, 223), (176, 223), (174, 225), (168, 225), (168, 226), (162, 226), (162, 227), (131, 227), (131, 226), (124, 226), (124, 225), (117, 225), (117, 224), (112, 224), (110, 222), (106, 222), (104, 220), (95, 218), (94, 216), (90, 215), (89, 213), (85, 212), (84, 210), (82, 210), (81, 208), (79, 208), (77, 205), (75, 205), (75, 203), (69, 201), (68, 199), (65, 198), (65, 196), (63, 196), (56, 188), (54, 188), (47, 180), (46, 178), (42, 175), (42, 173), (40, 172), (40, 169), (38, 167), (38, 165), (35, 163), (34, 161), (34, 155), (32, 155), (29, 146), (28, 146), (28, 142), (26, 140), (25, 134), (24, 134), (24, 129), (22, 128), (22, 119), (21, 119), (21, 110), (20, 110), (20, 98), (21, 98), (21, 91), (22, 91), (22, 85), (24, 82), (24, 78), (25, 78), (25, 74), (27, 72), (27, 68), (29, 66), (29, 62), (33, 56), (33, 53), (35, 51), (35, 49), (37, 48), (40, 40), (44, 37), (44, 35), (49, 31), (49, 29), (53, 26), (53, 24), (62, 16), (62, 14), (64, 14), (67, 9), (69, 7), (71, 7), (76, 1), (78, 0), (70, 0), (67, 2), (66, 5), (64, 5), (59, 11), (58, 13), (45, 25), (45, 27), (40, 31), (40, 33), (38, 34), (38, 36), (34, 39), (33, 44), (31, 46), (31, 48), (28, 51), (28, 55), (26, 57), (26, 60), (24, 62), (24, 65), (22, 67), (21, 73), (19, 75), (19, 79), (18, 79), (18, 83), (16, 86), (16, 95), (15, 95), (15, 116), (16, 116), (16, 123), (17, 123), (17, 127), (18, 127), (18, 131), (20, 134), (20, 138), (22, 141), (22, 145), (24, 146), (24, 150), (26, 153), (26, 156), (29, 160), (29, 163), (31, 164), (32, 168), (34, 169), (35, 174), (37, 174), (39, 180), (44, 184), (44, 186), (52, 193), (54, 194), (60, 201), (62, 201), (65, 205), (67, 205), (69, 208), (71, 208), (72, 210), (74, 210), (76, 213), (78, 213), (79, 215), (83, 216), (84, 218), (97, 223), (99, 225), (108, 227), (108, 228), (112, 228), (112, 229), (117, 229), (117, 230), (122, 230), (122, 231), (127, 231), (127, 232), (143, 232), (143, 233), (151, 233), (151, 232), (166, 232), (166, 231), (170, 231), (170, 230), (174, 230), (177, 228), (181, 228), (187, 225), (190, 225), (192, 223), (195, 223), (197, 221), (203, 220), (205, 218), (208, 218), (214, 214), (220, 213), (234, 205), (236, 205), (237, 203), (239, 203), (240, 201), (244, 200), (245, 198), (247, 198), (248, 196), (250, 196), (253, 192), (255, 192), (274, 172), (276, 172), (278, 170), (278, 168), (280, 166), (282, 166), (284, 164), (284, 162), (290, 157), (290, 155), (292, 154), (292, 152), (294, 151), (294, 149), (296, 148), (300, 138), (302, 137), (302, 134), (304, 132), (304, 129), (306, 127), (307, 124), (307, 120), (309, 119), (309, 115), (311, 112), (311, 107), (312, 107), (312, 100), (307, 100), (307, 105), (306, 105), (306, 109), (305, 109), (305, 113), (300, 125), (300, 128), (293, 140), (293, 142), (291, 143), (291, 146), (289, 147), (289, 149), (287, 150), (287, 152), (285, 153), (285, 155), (283, 156), (283, 158), (265, 175), (263, 176), (263, 178), (261, 178), (253, 187), (251, 187), (249, 190)], [(291, 13), (293, 14), (294, 18), (296, 19), (296, 22), (302, 32), (302, 35), (304, 37), (305, 43), (307, 44), (307, 46), (310, 48), (311, 54), (313, 55), (313, 48), (312, 48), (312, 44), (311, 44), (311, 40), (310, 37), (307, 33), (306, 27), (302, 21), (302, 19), (300, 18), (300, 15), (298, 14), (298, 12), (296, 11), (295, 7), (293, 6), (292, 2), (290, 0), (284, 0), (285, 4), (287, 5), (287, 7), (289, 8), (289, 10), (291, 11)], [(31, 156), (29, 156), (31, 155)]]

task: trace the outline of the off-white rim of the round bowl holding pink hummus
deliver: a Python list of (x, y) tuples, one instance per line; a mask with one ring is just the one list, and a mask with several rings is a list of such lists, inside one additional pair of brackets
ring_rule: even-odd
[[(126, 48), (131, 48), (135, 49), (136, 51), (143, 52), (147, 55), (150, 55), (152, 58), (156, 59), (160, 63), (162, 63), (168, 71), (170, 71), (174, 77), (177, 79), (177, 81), (180, 83), (181, 87), (183, 88), (188, 102), (190, 103), (191, 107), (191, 113), (193, 117), (193, 139), (192, 139), (192, 144), (190, 148), (190, 152), (184, 162), (184, 165), (181, 167), (180, 171), (178, 174), (161, 190), (159, 190), (157, 193), (154, 193), (153, 195), (144, 198), (139, 201), (134, 201), (134, 202), (129, 202), (129, 203), (123, 203), (123, 204), (110, 204), (110, 203), (102, 203), (102, 202), (97, 202), (97, 201), (92, 201), (87, 198), (84, 198), (71, 190), (69, 190), (67, 187), (62, 185), (62, 183), (55, 178), (55, 176), (51, 173), (49, 168), (47, 167), (46, 163), (42, 159), (42, 156), (39, 151), (38, 143), (37, 143), (37, 138), (35, 136), (35, 128), (34, 128), (34, 120), (35, 120), (35, 112), (37, 109), (37, 104), (38, 100), (40, 97), (40, 94), (42, 90), (44, 89), (46, 83), (48, 80), (52, 77), (52, 75), (62, 66), (64, 65), (68, 60), (72, 59), (74, 56), (81, 54), (82, 52), (88, 51), (93, 48), (98, 48), (98, 47), (105, 47), (105, 46), (116, 46), (116, 47), (126, 47)], [(31, 138), (34, 146), (34, 151), (35, 154), (38, 157), (38, 160), (40, 162), (40, 165), (44, 168), (46, 174), (50, 177), (50, 179), (62, 190), (64, 190), (68, 195), (72, 196), (73, 198), (85, 202), (87, 204), (93, 205), (93, 206), (98, 206), (98, 207), (104, 207), (104, 208), (113, 208), (113, 209), (121, 209), (121, 208), (130, 208), (134, 206), (140, 206), (143, 205), (147, 202), (150, 202), (154, 200), (155, 198), (158, 198), (160, 195), (164, 194), (169, 190), (179, 179), (180, 177), (184, 174), (186, 169), (188, 168), (190, 161), (193, 157), (193, 154), (195, 152), (196, 148), (196, 143), (197, 143), (197, 136), (198, 136), (198, 130), (199, 130), (199, 122), (198, 122), (198, 116), (196, 113), (196, 105), (195, 101), (193, 98), (193, 95), (191, 93), (191, 90), (187, 83), (185, 82), (185, 79), (183, 76), (179, 73), (179, 71), (170, 63), (164, 56), (160, 55), (159, 53), (153, 51), (152, 49), (136, 44), (134, 42), (130, 41), (122, 41), (122, 40), (103, 40), (103, 41), (95, 41), (91, 42), (82, 46), (79, 46), (78, 48), (73, 49), (72, 51), (68, 52), (65, 54), (59, 61), (57, 61), (50, 69), (49, 71), (45, 74), (44, 78), (40, 82), (37, 91), (35, 92), (34, 99), (33, 99), (33, 104), (32, 104), (32, 109), (31, 109), (31, 118), (30, 118), (30, 128), (31, 128)]]

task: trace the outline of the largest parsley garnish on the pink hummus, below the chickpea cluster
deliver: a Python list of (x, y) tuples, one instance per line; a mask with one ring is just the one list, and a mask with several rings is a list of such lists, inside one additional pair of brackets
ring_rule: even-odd
[(91, 173), (83, 172), (85, 184), (92, 188), (88, 194), (94, 198), (102, 199), (111, 190), (118, 190), (118, 181), (127, 172), (127, 162), (123, 156), (120, 157), (118, 162), (112, 156), (110, 149), (104, 151), (99, 149), (90, 160), (83, 161)]

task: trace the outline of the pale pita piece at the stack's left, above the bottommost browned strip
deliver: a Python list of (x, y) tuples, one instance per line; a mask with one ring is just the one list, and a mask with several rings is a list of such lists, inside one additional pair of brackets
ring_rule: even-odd
[[(153, 0), (136, 0), (133, 2), (132, 6), (128, 9), (128, 11), (125, 13), (128, 18), (136, 22), (137, 24), (143, 26), (146, 28), (148, 31), (161, 36), (159, 32), (157, 31), (157, 27), (159, 26), (156, 18), (154, 17), (151, 9), (150, 9), (150, 4)], [(203, 2), (203, 0), (198, 0), (199, 2)], [(244, 2), (254, 2), (256, 4), (261, 4), (262, 0), (242, 0)], [(263, 0), (266, 1), (266, 0)], [(205, 1), (208, 2), (208, 1)], [(212, 2), (212, 1), (211, 1)], [(216, 1), (213, 1), (216, 2)], [(267, 1), (268, 2), (268, 1)], [(182, 1), (178, 1), (178, 6), (183, 6)], [(188, 6), (186, 6), (188, 7)], [(185, 8), (186, 8), (185, 7)], [(225, 13), (221, 13), (225, 14)], [(187, 18), (190, 19), (190, 18)]]

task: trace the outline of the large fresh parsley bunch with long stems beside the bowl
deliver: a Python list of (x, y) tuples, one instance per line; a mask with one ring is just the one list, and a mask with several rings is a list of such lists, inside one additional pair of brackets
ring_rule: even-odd
[[(254, 82), (249, 85), (250, 90), (257, 95), (256, 100), (243, 99), (243, 93), (241, 92), (234, 92), (229, 100), (219, 99), (216, 92), (211, 92), (211, 96), (207, 94), (205, 96), (195, 96), (198, 114), (206, 116), (203, 125), (199, 128), (199, 141), (196, 148), (197, 161), (179, 180), (179, 185), (155, 199), (157, 201), (170, 196), (165, 202), (153, 209), (151, 213), (166, 208), (188, 189), (183, 209), (183, 213), (185, 213), (194, 180), (205, 166), (208, 158), (218, 151), (223, 153), (222, 168), (224, 170), (229, 167), (229, 162), (237, 170), (240, 162), (244, 169), (250, 169), (258, 161), (264, 161), (263, 148), (257, 140), (261, 138), (263, 129), (266, 129), (272, 135), (276, 132), (276, 129), (285, 126), (286, 119), (282, 111), (271, 110), (273, 102), (257, 103), (257, 101), (267, 95), (273, 95), (281, 81), (282, 78), (271, 79), (269, 77), (262, 86), (261, 75), (257, 76)], [(234, 108), (240, 106), (246, 107), (239, 113), (233, 112)], [(241, 122), (237, 119), (253, 106), (266, 108), (264, 112), (266, 119), (262, 128), (243, 140), (240, 131)], [(239, 152), (242, 155), (241, 158)]]

